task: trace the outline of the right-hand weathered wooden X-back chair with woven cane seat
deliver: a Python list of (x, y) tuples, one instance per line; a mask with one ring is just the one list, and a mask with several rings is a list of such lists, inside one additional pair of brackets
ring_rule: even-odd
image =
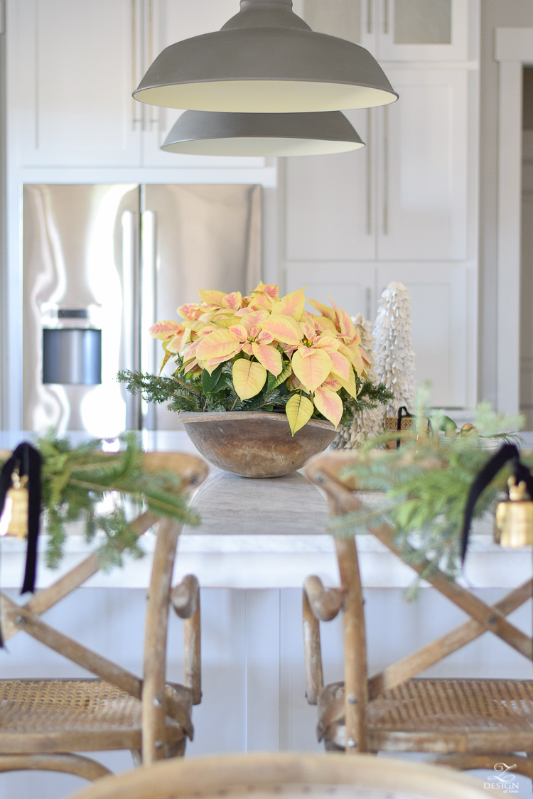
[[(352, 479), (342, 475), (353, 459), (348, 452), (317, 455), (305, 467), (308, 479), (328, 497), (333, 516), (358, 511), (361, 503)], [(400, 557), (394, 531), (383, 524), (372, 535)], [(304, 650), (308, 702), (318, 705), (318, 738), (328, 750), (352, 752), (432, 752), (434, 762), (457, 769), (493, 769), (504, 761), (513, 771), (533, 777), (533, 680), (416, 678), (487, 630), (532, 659), (531, 638), (507, 615), (531, 597), (527, 580), (487, 606), (440, 570), (425, 576), (471, 619), (422, 649), (368, 677), (364, 600), (354, 538), (336, 538), (340, 589), (325, 589), (320, 579), (304, 583)], [(422, 572), (428, 562), (415, 566)], [(324, 686), (320, 621), (342, 610), (344, 682)], [(511, 754), (512, 753), (512, 754)], [(506, 759), (511, 757), (511, 763)]]

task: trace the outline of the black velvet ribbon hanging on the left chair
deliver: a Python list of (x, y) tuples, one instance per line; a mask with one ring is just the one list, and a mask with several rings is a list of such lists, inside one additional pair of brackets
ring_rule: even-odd
[[(27, 441), (19, 444), (0, 471), (0, 515), (6, 503), (7, 491), (12, 487), (11, 475), (18, 468), (19, 477), (27, 477), (28, 490), (28, 542), (26, 546), (26, 570), (21, 594), (35, 590), (37, 570), (37, 543), (41, 524), (41, 455)], [(0, 642), (0, 646), (2, 643)]]

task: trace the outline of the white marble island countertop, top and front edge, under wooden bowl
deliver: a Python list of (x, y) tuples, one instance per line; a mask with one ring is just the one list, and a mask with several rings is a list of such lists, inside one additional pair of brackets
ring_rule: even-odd
[[(0, 447), (14, 446), (21, 440), (21, 434), (0, 433)], [(148, 434), (143, 444), (145, 449), (196, 452), (182, 431)], [(328, 523), (324, 497), (299, 472), (261, 480), (241, 478), (212, 467), (208, 479), (194, 495), (193, 504), (201, 511), (201, 524), (185, 527), (181, 535), (176, 580), (193, 572), (204, 587), (299, 588), (308, 574), (318, 574), (326, 585), (338, 585), (333, 540), (324, 533)], [(516, 586), (531, 576), (531, 552), (503, 550), (492, 543), (491, 526), (491, 519), (475, 524), (463, 582), (476, 587)], [(72, 532), (58, 570), (46, 568), (46, 536), (42, 536), (38, 586), (50, 585), (93, 550), (94, 545), (89, 546), (79, 535), (79, 528)], [(124, 568), (115, 568), (109, 574), (100, 572), (86, 585), (145, 587), (154, 540), (151, 532), (142, 536), (145, 558), (127, 557)], [(414, 571), (372, 535), (360, 535), (357, 542), (364, 586), (397, 588), (412, 583)], [(25, 551), (24, 542), (2, 539), (2, 588), (22, 584)]]

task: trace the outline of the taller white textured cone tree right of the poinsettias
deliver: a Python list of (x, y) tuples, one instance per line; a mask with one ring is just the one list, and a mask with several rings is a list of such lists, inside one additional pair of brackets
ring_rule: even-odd
[(415, 402), (415, 353), (411, 338), (411, 300), (402, 283), (390, 283), (380, 299), (374, 324), (376, 377), (394, 394), (387, 415)]

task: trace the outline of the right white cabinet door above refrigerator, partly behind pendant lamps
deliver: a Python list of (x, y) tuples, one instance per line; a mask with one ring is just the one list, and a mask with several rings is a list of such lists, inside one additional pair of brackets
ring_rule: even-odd
[[(219, 30), (237, 14), (239, 0), (144, 0), (144, 69), (165, 47)], [(138, 106), (143, 106), (137, 102)], [(181, 111), (144, 106), (143, 165), (165, 167), (262, 167), (264, 158), (239, 158), (165, 153), (161, 145)]]

